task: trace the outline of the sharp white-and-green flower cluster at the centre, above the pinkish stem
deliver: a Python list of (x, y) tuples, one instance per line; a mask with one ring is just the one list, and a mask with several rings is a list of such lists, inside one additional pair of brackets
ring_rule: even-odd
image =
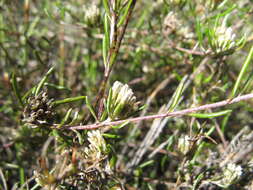
[(127, 84), (121, 82), (114, 82), (111, 88), (111, 100), (108, 101), (109, 117), (111, 120), (122, 119), (129, 116), (129, 114), (136, 109), (136, 97), (131, 88)]

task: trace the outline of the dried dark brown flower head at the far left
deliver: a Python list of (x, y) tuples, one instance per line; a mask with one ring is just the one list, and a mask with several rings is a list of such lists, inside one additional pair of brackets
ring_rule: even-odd
[(46, 91), (30, 96), (23, 111), (23, 121), (32, 127), (52, 124), (55, 114), (52, 102)]

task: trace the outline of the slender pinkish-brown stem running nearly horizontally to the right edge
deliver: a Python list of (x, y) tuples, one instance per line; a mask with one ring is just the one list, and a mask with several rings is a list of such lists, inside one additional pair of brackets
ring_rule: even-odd
[(212, 104), (206, 104), (206, 105), (195, 107), (195, 108), (188, 108), (188, 109), (184, 109), (184, 110), (168, 112), (168, 113), (163, 113), (163, 114), (157, 114), (157, 115), (148, 115), (148, 116), (142, 116), (142, 117), (135, 117), (135, 118), (124, 119), (124, 120), (119, 120), (119, 121), (102, 122), (102, 123), (96, 123), (96, 124), (90, 124), (90, 125), (72, 126), (72, 127), (69, 127), (68, 129), (92, 130), (92, 129), (98, 129), (98, 128), (101, 128), (101, 127), (104, 127), (104, 126), (119, 125), (119, 124), (122, 124), (122, 123), (125, 123), (125, 122), (136, 123), (136, 122), (139, 122), (139, 121), (142, 121), (142, 120), (152, 120), (152, 119), (165, 118), (165, 117), (183, 116), (183, 115), (187, 115), (187, 114), (197, 112), (197, 111), (201, 111), (201, 110), (208, 110), (208, 109), (223, 107), (223, 106), (234, 104), (234, 103), (237, 103), (237, 102), (240, 102), (240, 101), (245, 101), (245, 100), (248, 100), (248, 99), (251, 99), (251, 98), (253, 98), (253, 93), (238, 96), (234, 99), (227, 99), (227, 100), (223, 100), (223, 101), (212, 103)]

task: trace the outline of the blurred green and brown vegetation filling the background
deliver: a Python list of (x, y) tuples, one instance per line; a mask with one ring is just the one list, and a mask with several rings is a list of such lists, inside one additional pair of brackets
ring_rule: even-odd
[[(231, 97), (252, 46), (252, 14), (252, 0), (137, 1), (106, 91), (115, 81), (127, 83), (144, 106), (134, 116), (165, 112), (182, 80), (184, 89), (176, 110)], [(102, 0), (0, 1), (0, 189), (41, 188), (36, 186), (34, 170), (41, 167), (45, 142), (59, 134), (31, 128), (22, 119), (25, 99), (50, 68), (54, 71), (43, 87), (50, 99), (87, 96), (95, 104), (104, 72), (104, 17)], [(231, 27), (233, 35), (221, 47), (224, 44), (217, 44), (214, 33), (223, 25)], [(252, 72), (249, 64), (233, 96), (252, 92)], [(54, 122), (62, 123), (70, 109), (69, 120), (75, 118), (72, 125), (94, 122), (87, 121), (90, 110), (86, 105), (77, 101), (57, 106)], [(54, 188), (252, 189), (253, 148), (246, 143), (252, 137), (245, 140), (241, 135), (237, 136), (238, 142), (233, 141), (239, 133), (252, 134), (252, 105), (249, 100), (227, 106), (233, 111), (218, 118), (160, 120), (165, 127), (157, 127), (158, 136), (147, 140), (148, 150), (138, 162), (133, 160), (154, 123), (143, 121), (112, 130), (110, 134), (117, 138), (105, 139), (111, 146), (111, 162), (117, 158), (112, 164), (113, 178), (99, 185), (90, 181), (82, 186), (59, 182)], [(86, 131), (80, 134), (86, 138)], [(65, 135), (72, 138), (71, 143), (66, 145), (61, 139), (48, 147), (46, 157), (51, 168), (60, 161), (55, 156), (59, 147), (72, 150), (78, 146), (75, 132)], [(178, 146), (179, 139), (185, 137), (197, 144), (187, 154)], [(247, 148), (247, 153), (240, 152)], [(159, 151), (150, 156), (153, 150)], [(229, 158), (244, 168), (246, 177), (224, 185), (224, 181), (217, 182), (224, 178), (219, 164), (225, 160), (223, 165), (227, 166)]]

